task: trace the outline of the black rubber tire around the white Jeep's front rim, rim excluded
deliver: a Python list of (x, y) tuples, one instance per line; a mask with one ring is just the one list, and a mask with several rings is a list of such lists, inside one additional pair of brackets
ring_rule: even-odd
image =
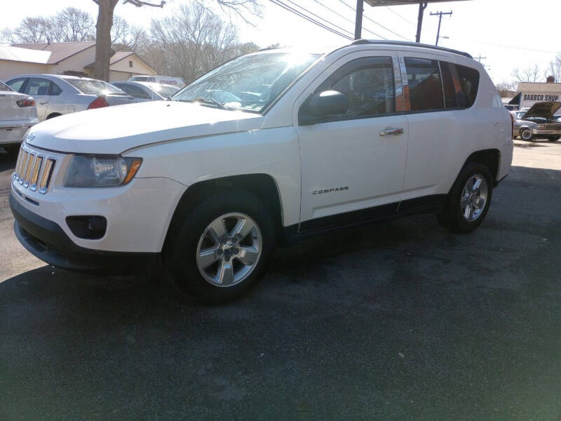
[[(261, 255), (247, 278), (233, 286), (220, 287), (205, 280), (197, 267), (196, 255), (205, 229), (216, 218), (228, 213), (242, 213), (255, 221), (262, 235)], [(263, 201), (248, 192), (219, 192), (204, 199), (178, 225), (177, 234), (173, 235), (166, 247), (164, 262), (170, 272), (170, 283), (180, 293), (193, 295), (205, 303), (223, 304), (241, 297), (255, 286), (266, 269), (275, 245), (273, 214)]]

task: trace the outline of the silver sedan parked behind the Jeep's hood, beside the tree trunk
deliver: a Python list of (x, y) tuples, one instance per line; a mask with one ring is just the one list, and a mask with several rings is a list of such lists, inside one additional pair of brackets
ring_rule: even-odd
[(111, 84), (62, 74), (22, 74), (6, 79), (14, 91), (31, 95), (40, 121), (62, 114), (137, 102)]

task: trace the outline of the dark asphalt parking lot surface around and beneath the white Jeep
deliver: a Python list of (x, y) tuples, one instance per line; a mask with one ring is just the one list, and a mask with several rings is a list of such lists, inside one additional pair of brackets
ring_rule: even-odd
[(222, 307), (32, 257), (0, 152), (0, 420), (560, 420), (561, 142), (516, 144), (473, 234), (297, 243)]

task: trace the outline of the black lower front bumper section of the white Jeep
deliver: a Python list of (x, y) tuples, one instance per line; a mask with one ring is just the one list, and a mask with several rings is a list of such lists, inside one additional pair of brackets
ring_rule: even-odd
[(28, 210), (10, 194), (15, 235), (22, 245), (49, 265), (99, 274), (146, 274), (160, 253), (124, 253), (77, 246), (56, 222)]

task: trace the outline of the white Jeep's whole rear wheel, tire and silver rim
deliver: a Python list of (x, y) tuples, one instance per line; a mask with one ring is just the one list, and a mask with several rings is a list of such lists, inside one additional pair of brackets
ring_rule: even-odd
[(467, 234), (481, 225), (491, 204), (492, 178), (482, 163), (468, 163), (448, 193), (445, 207), (437, 215), (442, 227)]

